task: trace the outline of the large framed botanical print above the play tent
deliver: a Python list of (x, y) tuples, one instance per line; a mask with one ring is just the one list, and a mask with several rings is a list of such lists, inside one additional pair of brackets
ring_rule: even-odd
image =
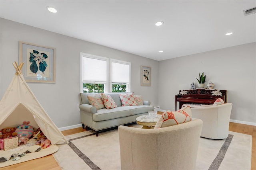
[(55, 83), (55, 48), (20, 41), (19, 63), (26, 82)]

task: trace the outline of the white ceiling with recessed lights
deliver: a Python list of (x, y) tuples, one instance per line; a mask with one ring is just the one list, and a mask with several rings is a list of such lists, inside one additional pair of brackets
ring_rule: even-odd
[(256, 42), (256, 14), (243, 13), (253, 7), (256, 0), (1, 0), (0, 16), (161, 61)]

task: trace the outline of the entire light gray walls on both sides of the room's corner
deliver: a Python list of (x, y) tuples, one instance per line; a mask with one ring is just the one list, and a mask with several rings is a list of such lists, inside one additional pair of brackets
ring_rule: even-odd
[[(0, 33), (1, 98), (15, 73), (19, 41), (56, 48), (56, 83), (28, 85), (58, 127), (80, 123), (80, 52), (131, 62), (131, 91), (164, 110), (174, 110), (174, 96), (204, 72), (206, 84), (212, 81), (216, 89), (228, 90), (232, 121), (256, 125), (256, 43), (158, 62), (2, 18)], [(150, 87), (140, 86), (141, 65), (152, 67)]]

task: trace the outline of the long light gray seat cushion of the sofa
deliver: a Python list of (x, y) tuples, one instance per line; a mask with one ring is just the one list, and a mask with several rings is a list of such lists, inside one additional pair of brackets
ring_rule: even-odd
[[(129, 117), (131, 115), (138, 115), (141, 113), (148, 114), (148, 111), (153, 111), (154, 106), (142, 105), (142, 106), (127, 106), (116, 107), (113, 109), (100, 109), (97, 113), (92, 114), (93, 121), (104, 121), (110, 119), (116, 119), (120, 117)], [(136, 121), (136, 119), (134, 119)], [(127, 122), (130, 123), (130, 122)]]

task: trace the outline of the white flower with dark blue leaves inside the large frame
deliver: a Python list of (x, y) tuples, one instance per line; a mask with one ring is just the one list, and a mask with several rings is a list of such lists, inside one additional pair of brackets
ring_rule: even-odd
[(39, 70), (42, 71), (42, 73), (44, 73), (47, 67), (47, 63), (46, 61), (44, 61), (44, 59), (47, 59), (47, 58), (48, 56), (45, 53), (39, 53), (38, 51), (33, 50), (33, 53), (30, 53), (30, 58), (29, 58), (29, 62), (31, 63), (30, 65), (31, 72), (36, 74), (36, 72), (38, 71), (38, 66), (36, 62), (38, 62)]

